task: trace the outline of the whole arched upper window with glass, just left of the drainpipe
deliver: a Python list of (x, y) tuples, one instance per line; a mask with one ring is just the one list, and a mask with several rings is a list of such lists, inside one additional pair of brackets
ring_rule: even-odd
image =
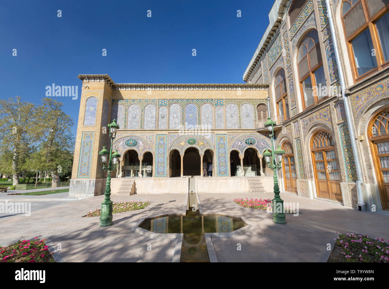
[(310, 107), (328, 96), (316, 29), (308, 31), (301, 40), (297, 52), (297, 65), (303, 108)]

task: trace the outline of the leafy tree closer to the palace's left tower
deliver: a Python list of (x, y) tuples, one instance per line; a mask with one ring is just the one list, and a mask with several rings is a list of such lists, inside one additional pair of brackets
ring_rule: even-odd
[(52, 187), (60, 182), (59, 173), (66, 166), (69, 154), (74, 150), (74, 137), (71, 127), (73, 119), (62, 111), (63, 103), (51, 98), (43, 98), (38, 108), (41, 151), (46, 159), (42, 170), (51, 172)]

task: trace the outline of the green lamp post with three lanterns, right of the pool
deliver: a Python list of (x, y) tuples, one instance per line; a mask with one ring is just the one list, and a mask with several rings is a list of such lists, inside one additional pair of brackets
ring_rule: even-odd
[[(270, 117), (268, 117), (268, 121), (264, 123), (264, 125), (269, 130), (269, 136), (274, 138), (274, 126), (277, 123), (272, 121)], [(274, 151), (274, 144), (272, 142), (272, 152), (269, 152), (268, 149), (263, 153), (265, 157), (265, 161), (269, 168), (273, 170), (273, 180), (274, 180), (274, 199), (273, 202), (273, 222), (278, 224), (286, 223), (286, 216), (284, 213), (284, 201), (280, 198), (280, 187), (278, 186), (277, 179), (277, 170), (281, 168), (281, 161), (285, 154), (285, 151), (281, 149), (279, 145), (277, 150)]]

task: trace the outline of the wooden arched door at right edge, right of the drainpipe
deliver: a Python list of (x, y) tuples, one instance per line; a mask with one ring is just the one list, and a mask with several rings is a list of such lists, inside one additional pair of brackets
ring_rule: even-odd
[(376, 114), (368, 126), (382, 208), (389, 210), (389, 109)]

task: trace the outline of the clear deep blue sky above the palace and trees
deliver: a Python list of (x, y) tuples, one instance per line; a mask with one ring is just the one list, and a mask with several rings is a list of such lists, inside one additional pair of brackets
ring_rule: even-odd
[[(243, 83), (242, 74), (268, 26), (272, 4), (1, 1), (1, 99), (19, 95), (40, 103), (52, 83), (77, 85), (80, 98), (78, 74), (109, 74), (116, 83)], [(102, 56), (103, 48), (107, 56)], [(193, 48), (197, 56), (192, 56)], [(12, 56), (12, 49), (17, 49), (17, 56)], [(74, 134), (79, 98), (55, 98), (73, 117)]]

